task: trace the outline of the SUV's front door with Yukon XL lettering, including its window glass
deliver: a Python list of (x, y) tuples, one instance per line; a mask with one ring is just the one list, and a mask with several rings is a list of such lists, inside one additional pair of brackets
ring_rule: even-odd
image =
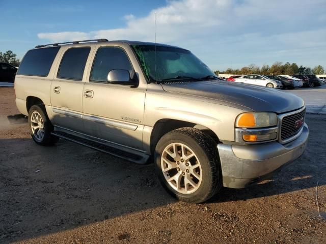
[(123, 48), (99, 46), (84, 86), (85, 132), (105, 141), (143, 149), (146, 89), (107, 83), (107, 74), (114, 69), (128, 70), (137, 79)]

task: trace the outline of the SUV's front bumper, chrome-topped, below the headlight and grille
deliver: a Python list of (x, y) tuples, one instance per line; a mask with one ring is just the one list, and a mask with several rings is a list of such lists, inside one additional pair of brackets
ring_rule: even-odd
[(244, 188), (269, 177), (303, 154), (308, 135), (305, 123), (301, 135), (286, 144), (277, 141), (244, 146), (218, 144), (223, 186)]

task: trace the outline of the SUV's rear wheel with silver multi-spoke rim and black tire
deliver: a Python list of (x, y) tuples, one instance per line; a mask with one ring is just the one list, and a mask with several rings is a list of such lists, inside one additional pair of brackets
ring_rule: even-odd
[(32, 139), (39, 145), (49, 146), (58, 142), (59, 137), (51, 135), (53, 126), (44, 110), (43, 106), (33, 105), (28, 121)]

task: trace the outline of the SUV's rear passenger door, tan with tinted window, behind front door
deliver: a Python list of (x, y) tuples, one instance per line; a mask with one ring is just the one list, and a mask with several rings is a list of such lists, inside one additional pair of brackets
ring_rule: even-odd
[(83, 80), (91, 47), (65, 47), (56, 77), (51, 83), (50, 98), (53, 124), (83, 132)]

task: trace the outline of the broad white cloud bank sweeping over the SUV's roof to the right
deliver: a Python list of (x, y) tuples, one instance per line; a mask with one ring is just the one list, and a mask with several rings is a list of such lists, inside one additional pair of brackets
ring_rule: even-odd
[[(325, 8), (324, 0), (168, 1), (165, 7), (153, 9), (145, 17), (124, 16), (124, 28), (87, 33), (40, 33), (38, 37), (52, 42), (93, 38), (154, 41), (156, 13), (157, 42), (191, 49), (212, 69), (219, 68), (216, 66), (224, 69), (236, 56), (242, 58), (242, 65), (254, 63), (254, 60), (248, 59), (257, 52), (262, 56), (316, 46), (325, 50), (326, 28), (322, 21)], [(325, 52), (321, 51), (321, 54), (324, 56)], [(279, 52), (279, 57), (277, 60), (283, 61), (284, 54)], [(265, 60), (269, 62), (268, 58)]]

